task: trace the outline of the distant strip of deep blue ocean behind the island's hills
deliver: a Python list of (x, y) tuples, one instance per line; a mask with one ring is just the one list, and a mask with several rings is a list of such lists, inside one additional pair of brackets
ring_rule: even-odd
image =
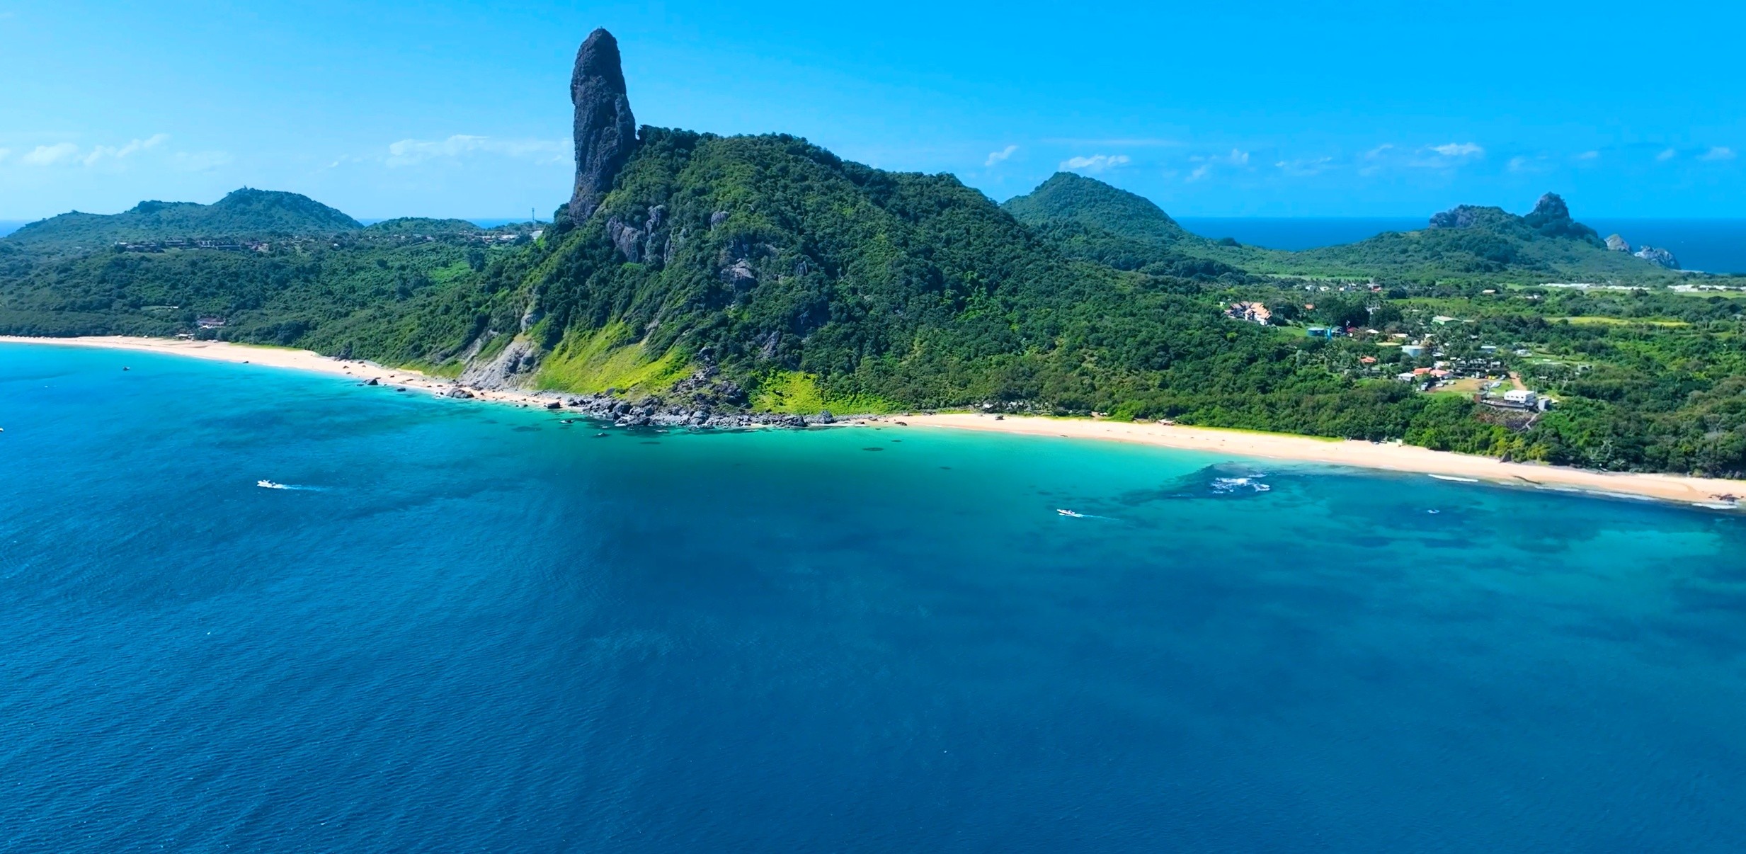
[[(33, 220), (0, 220), (0, 238)], [(361, 218), (365, 225), (382, 218)], [(494, 229), (522, 218), (468, 218), (480, 229)], [(1233, 238), (1248, 246), (1269, 250), (1313, 250), (1357, 243), (1388, 231), (1418, 231), (1426, 217), (1180, 217), (1184, 229), (1201, 238)], [(1673, 251), (1680, 265), (1704, 272), (1746, 272), (1746, 218), (1734, 220), (1653, 220), (1594, 218), (1582, 220), (1603, 238), (1620, 234), (1636, 246)]]

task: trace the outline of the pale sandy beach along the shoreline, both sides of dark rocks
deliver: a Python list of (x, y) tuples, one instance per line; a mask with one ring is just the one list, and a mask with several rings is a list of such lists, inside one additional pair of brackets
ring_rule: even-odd
[[(38, 339), (0, 335), (0, 342), (47, 344), (63, 348), (101, 348), (140, 353), (171, 353), (180, 356), (267, 365), (292, 370), (313, 370), (320, 374), (353, 377), (360, 382), (375, 379), (379, 384), (447, 395), (456, 384), (443, 377), (431, 377), (417, 370), (388, 368), (372, 362), (337, 360), (307, 349), (258, 348), (246, 344), (229, 344), (220, 341), (173, 341), (141, 337), (79, 337), (79, 339)], [(470, 389), (475, 400), (492, 403), (512, 403), (522, 407), (545, 407), (553, 400), (550, 395), (529, 391), (480, 391)], [(1327, 440), (1311, 437), (1294, 437), (1282, 433), (1252, 433), (1241, 430), (1191, 428), (1179, 424), (1121, 423), (1062, 417), (1021, 417), (1007, 416), (997, 419), (983, 414), (932, 414), (870, 419), (882, 424), (903, 423), (911, 428), (943, 430), (980, 430), (988, 433), (1011, 433), (1027, 437), (1060, 438), (1095, 438), (1107, 442), (1133, 442), (1142, 445), (1173, 447), (1184, 451), (1206, 451), (1229, 454), (1233, 458), (1289, 459), (1299, 463), (1325, 463), (1336, 466), (1378, 468), (1388, 472), (1411, 472), (1447, 480), (1468, 480), (1486, 484), (1505, 484), (1516, 487), (1536, 487), (1554, 491), (1599, 492), (1627, 498), (1653, 498), (1687, 505), (1725, 508), (1737, 506), (1730, 496), (1746, 498), (1746, 480), (1720, 480), (1681, 475), (1641, 475), (1591, 472), (1584, 468), (1545, 466), (1533, 463), (1503, 463), (1495, 458), (1453, 454), (1446, 451), (1428, 451), (1413, 445)]]

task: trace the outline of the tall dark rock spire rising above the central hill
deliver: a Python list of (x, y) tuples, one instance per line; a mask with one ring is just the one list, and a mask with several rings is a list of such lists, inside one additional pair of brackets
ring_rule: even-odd
[(581, 42), (569, 79), (569, 101), (576, 107), (576, 189), (569, 197), (569, 215), (580, 222), (601, 206), (618, 169), (637, 147), (637, 121), (630, 115), (613, 33), (595, 30)]

